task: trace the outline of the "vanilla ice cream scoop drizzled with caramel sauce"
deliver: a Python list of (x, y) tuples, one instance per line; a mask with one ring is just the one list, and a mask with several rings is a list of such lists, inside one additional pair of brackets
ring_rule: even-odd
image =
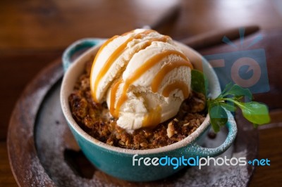
[(118, 126), (154, 127), (175, 116), (190, 93), (192, 65), (173, 40), (133, 30), (106, 41), (92, 65), (94, 101), (106, 101)]

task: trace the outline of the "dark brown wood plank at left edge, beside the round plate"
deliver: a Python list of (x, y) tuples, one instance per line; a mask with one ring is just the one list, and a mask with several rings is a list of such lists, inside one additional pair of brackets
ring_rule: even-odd
[(60, 58), (62, 51), (6, 51), (0, 53), (1, 131), (6, 138), (8, 121), (18, 97), (28, 82), (48, 63)]

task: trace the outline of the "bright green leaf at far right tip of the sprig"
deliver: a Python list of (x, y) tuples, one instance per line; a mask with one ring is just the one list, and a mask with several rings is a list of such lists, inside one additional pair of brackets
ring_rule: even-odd
[(238, 107), (242, 110), (243, 116), (253, 124), (267, 124), (270, 122), (269, 109), (262, 103), (255, 101), (248, 103), (238, 102)]

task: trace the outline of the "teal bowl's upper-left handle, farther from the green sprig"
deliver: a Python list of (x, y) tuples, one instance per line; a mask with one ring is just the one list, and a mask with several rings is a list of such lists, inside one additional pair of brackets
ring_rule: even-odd
[(68, 70), (68, 67), (73, 62), (72, 58), (75, 53), (78, 53), (82, 49), (90, 49), (93, 46), (97, 46), (98, 44), (101, 44), (106, 39), (100, 39), (100, 38), (86, 38), (86, 39), (80, 39), (78, 41), (75, 41), (73, 44), (68, 46), (68, 48), (63, 52), (63, 70), (66, 72)]

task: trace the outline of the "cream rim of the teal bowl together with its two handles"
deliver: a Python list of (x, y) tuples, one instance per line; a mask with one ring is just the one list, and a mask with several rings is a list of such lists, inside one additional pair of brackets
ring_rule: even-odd
[[(102, 43), (104, 43), (106, 39), (99, 39), (99, 38), (87, 38), (87, 39), (80, 39), (78, 41), (75, 41), (73, 44), (68, 46), (66, 51), (63, 53), (63, 68), (65, 70), (65, 76), (63, 79), (62, 87), (61, 87), (61, 106), (63, 109), (63, 114), (66, 117), (66, 120), (68, 121), (68, 124), (71, 125), (73, 130), (79, 135), (85, 138), (85, 140), (89, 141), (90, 143), (94, 143), (95, 145), (105, 148), (106, 150), (109, 150), (110, 152), (114, 152), (117, 154), (126, 154), (126, 155), (150, 155), (150, 154), (156, 154), (156, 153), (165, 153), (171, 150), (178, 150), (180, 148), (187, 148), (186, 151), (191, 153), (192, 155), (198, 155), (200, 157), (207, 157), (207, 156), (216, 156), (220, 155), (224, 151), (226, 151), (235, 141), (235, 136), (237, 134), (237, 126), (235, 123), (235, 120), (233, 118), (233, 115), (231, 112), (226, 111), (228, 113), (228, 122), (226, 123), (226, 127), (228, 129), (228, 135), (226, 137), (226, 141), (224, 141), (221, 146), (217, 148), (203, 148), (202, 146), (197, 145), (196, 141), (200, 136), (203, 134), (204, 130), (209, 127), (209, 114), (207, 114), (206, 119), (204, 122), (200, 125), (200, 127), (197, 128), (195, 132), (193, 132), (190, 136), (184, 138), (182, 141), (179, 141), (177, 143), (173, 143), (169, 146), (164, 146), (161, 148), (154, 148), (154, 149), (148, 149), (148, 150), (130, 150), (125, 148), (118, 148), (114, 146), (109, 146), (106, 143), (102, 143), (101, 141), (98, 141), (96, 138), (93, 138), (89, 134), (87, 134), (85, 131), (83, 131), (78, 124), (75, 122), (71, 115), (70, 108), (68, 106), (68, 102), (66, 99), (66, 94), (63, 94), (63, 89), (66, 86), (65, 77), (69, 77), (70, 74), (72, 74), (71, 71), (75, 69), (75, 66), (78, 63), (84, 63), (82, 62), (82, 56), (89, 55), (92, 53), (92, 51), (96, 51), (99, 49), (99, 46), (101, 46)], [(195, 53), (196, 56), (198, 56), (202, 60), (203, 68), (205, 68), (205, 72), (207, 72), (207, 78), (209, 80), (209, 85), (212, 85), (212, 90), (215, 90), (214, 93), (212, 93), (212, 98), (216, 98), (216, 96), (221, 93), (219, 80), (216, 77), (216, 74), (214, 70), (210, 67), (207, 60), (202, 58), (199, 53), (194, 51), (193, 49), (190, 49), (189, 47), (180, 44), (176, 41), (176, 44), (185, 51), (190, 51), (190, 53)], [(82, 54), (78, 59), (76, 59), (74, 62), (72, 62), (71, 57), (73, 54), (81, 49), (90, 48), (85, 53)], [(214, 89), (215, 88), (215, 89)], [(204, 124), (204, 126), (203, 126)]]

